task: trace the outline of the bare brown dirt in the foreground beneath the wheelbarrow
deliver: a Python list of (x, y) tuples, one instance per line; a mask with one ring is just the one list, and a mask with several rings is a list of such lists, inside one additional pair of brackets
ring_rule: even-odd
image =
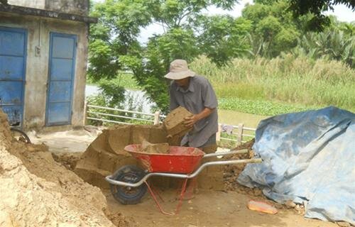
[[(166, 210), (173, 211), (175, 191), (162, 192)], [(279, 209), (278, 214), (262, 214), (246, 208), (249, 197), (237, 192), (202, 191), (190, 201), (184, 201), (180, 214), (165, 216), (156, 209), (148, 194), (141, 204), (121, 205), (110, 192), (104, 192), (113, 211), (132, 217), (136, 226), (194, 227), (194, 226), (238, 226), (238, 227), (334, 227), (334, 223), (303, 218), (294, 210)]]

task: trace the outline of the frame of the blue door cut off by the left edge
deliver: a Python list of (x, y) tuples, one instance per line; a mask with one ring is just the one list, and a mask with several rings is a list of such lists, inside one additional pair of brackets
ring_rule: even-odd
[[(22, 94), (21, 94), (21, 99), (22, 99), (22, 104), (21, 104), (21, 123), (20, 126), (16, 128), (23, 128), (23, 120), (25, 119), (25, 92), (26, 92), (26, 71), (27, 71), (27, 37), (28, 37), (28, 29), (27, 28), (12, 28), (12, 27), (6, 27), (6, 26), (0, 26), (0, 30), (2, 31), (10, 31), (10, 32), (16, 32), (16, 33), (23, 33), (24, 35), (24, 43), (23, 43), (23, 75), (22, 75)], [(6, 81), (6, 80), (5, 80)]]

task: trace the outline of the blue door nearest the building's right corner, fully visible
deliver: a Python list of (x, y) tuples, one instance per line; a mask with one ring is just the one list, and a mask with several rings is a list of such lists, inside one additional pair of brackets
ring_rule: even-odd
[(76, 46), (76, 35), (50, 33), (46, 126), (68, 125), (72, 121)]

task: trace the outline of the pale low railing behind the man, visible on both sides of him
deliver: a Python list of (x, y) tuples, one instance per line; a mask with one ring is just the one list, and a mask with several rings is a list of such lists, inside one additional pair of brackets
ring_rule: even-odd
[[(132, 124), (122, 119), (129, 119), (134, 121), (143, 121), (146, 123), (153, 123), (155, 125), (162, 123), (165, 119), (165, 115), (160, 114), (160, 111), (156, 111), (154, 114), (143, 113), (139, 111), (128, 111), (124, 109), (115, 109), (105, 106), (94, 106), (85, 104), (84, 107), (85, 118), (84, 125), (87, 125), (87, 120), (102, 121), (108, 123), (122, 123), (122, 124)], [(100, 111), (110, 111), (110, 113), (103, 113)], [(115, 114), (112, 114), (115, 113)], [(116, 114), (117, 113), (117, 114)], [(111, 119), (104, 118), (104, 116), (109, 116)], [(114, 120), (112, 120), (114, 118)], [(244, 123), (239, 123), (238, 126), (232, 126), (233, 130), (228, 135), (223, 132), (223, 124), (219, 123), (219, 130), (217, 132), (217, 142), (229, 141), (231, 145), (240, 145), (248, 140), (254, 138), (256, 128), (245, 127)]]

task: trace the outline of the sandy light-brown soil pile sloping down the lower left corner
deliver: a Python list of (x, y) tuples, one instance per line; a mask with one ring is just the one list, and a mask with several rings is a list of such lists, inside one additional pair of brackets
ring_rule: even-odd
[[(129, 226), (97, 187), (53, 160), (45, 145), (11, 137), (0, 112), (0, 226)], [(105, 216), (105, 212), (107, 216)]]

